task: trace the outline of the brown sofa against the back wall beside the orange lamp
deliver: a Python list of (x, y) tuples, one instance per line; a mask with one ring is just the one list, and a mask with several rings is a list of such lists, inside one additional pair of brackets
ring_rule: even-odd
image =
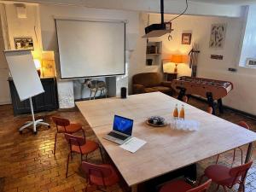
[(160, 91), (172, 94), (172, 82), (162, 81), (159, 73), (138, 73), (132, 77), (133, 94)]

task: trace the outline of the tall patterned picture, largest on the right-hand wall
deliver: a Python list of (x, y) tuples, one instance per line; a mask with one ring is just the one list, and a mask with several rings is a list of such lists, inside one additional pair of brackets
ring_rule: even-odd
[(212, 24), (210, 48), (224, 48), (226, 27), (225, 23)]

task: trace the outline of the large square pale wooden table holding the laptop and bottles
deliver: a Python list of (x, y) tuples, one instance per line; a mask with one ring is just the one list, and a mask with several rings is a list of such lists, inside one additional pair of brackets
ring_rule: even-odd
[[(200, 122), (199, 131), (177, 131), (170, 126), (154, 128), (146, 125), (145, 119), (151, 115), (171, 119), (176, 103), (185, 106), (186, 119)], [(253, 131), (160, 92), (76, 104), (133, 191), (137, 190), (138, 183), (250, 143), (248, 161), (252, 154), (252, 143), (256, 140)], [(114, 114), (134, 119), (132, 135), (147, 141), (135, 154), (102, 138), (112, 130)]]

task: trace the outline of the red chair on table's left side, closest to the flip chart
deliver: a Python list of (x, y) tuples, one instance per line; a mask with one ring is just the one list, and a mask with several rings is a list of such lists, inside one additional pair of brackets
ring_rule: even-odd
[[(55, 123), (56, 129), (57, 129), (55, 133), (55, 148), (56, 148), (58, 133), (74, 134), (76, 132), (83, 131), (83, 134), (84, 134), (83, 127), (80, 124), (71, 124), (68, 119), (63, 119), (60, 117), (52, 117), (51, 119)], [(85, 138), (85, 134), (84, 134), (84, 138)], [(55, 154), (55, 149), (54, 149), (54, 154)]]

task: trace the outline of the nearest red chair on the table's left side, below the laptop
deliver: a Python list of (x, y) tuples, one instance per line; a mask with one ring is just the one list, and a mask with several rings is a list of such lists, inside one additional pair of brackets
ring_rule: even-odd
[(119, 182), (119, 175), (111, 165), (95, 165), (83, 161), (82, 170), (87, 173), (87, 186), (85, 192), (87, 192), (89, 184), (95, 184), (97, 190), (104, 191), (100, 189), (100, 187), (106, 189), (108, 186), (112, 186)]

